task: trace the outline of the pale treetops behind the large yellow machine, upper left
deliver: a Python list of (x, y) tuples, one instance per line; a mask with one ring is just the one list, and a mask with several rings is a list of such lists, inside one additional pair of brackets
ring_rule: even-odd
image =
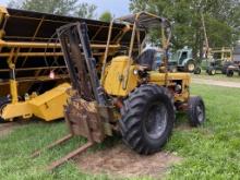
[(96, 5), (85, 2), (79, 3), (77, 0), (11, 0), (8, 7), (85, 19), (96, 16)]

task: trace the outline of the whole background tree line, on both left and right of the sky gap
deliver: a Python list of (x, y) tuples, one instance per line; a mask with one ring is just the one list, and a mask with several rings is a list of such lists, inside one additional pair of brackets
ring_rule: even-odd
[[(104, 12), (97, 17), (95, 4), (77, 0), (11, 0), (11, 8), (59, 15), (98, 19), (110, 22), (113, 15)], [(172, 22), (172, 48), (193, 48), (193, 56), (203, 55), (204, 17), (209, 47), (230, 47), (240, 39), (239, 0), (130, 0), (132, 13), (147, 11)], [(153, 40), (157, 37), (153, 33)]]

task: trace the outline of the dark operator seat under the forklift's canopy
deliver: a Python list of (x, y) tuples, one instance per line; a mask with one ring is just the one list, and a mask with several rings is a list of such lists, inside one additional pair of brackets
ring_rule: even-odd
[(156, 53), (155, 49), (146, 49), (144, 50), (135, 60), (139, 65), (146, 67), (146, 70), (155, 70), (156, 69)]

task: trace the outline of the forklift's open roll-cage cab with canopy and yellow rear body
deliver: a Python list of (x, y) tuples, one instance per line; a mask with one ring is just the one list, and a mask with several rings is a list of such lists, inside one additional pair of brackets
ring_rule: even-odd
[[(113, 23), (125, 24), (127, 31), (132, 31), (129, 48), (124, 55), (113, 57), (108, 61), (109, 43), (112, 38)], [(111, 22), (108, 34), (108, 44), (103, 63), (101, 84), (108, 94), (127, 96), (137, 84), (159, 76), (159, 84), (167, 82), (168, 74), (168, 47), (171, 36), (170, 23), (157, 15), (140, 12), (116, 19)], [(143, 34), (144, 32), (144, 34)], [(145, 48), (149, 34), (158, 35), (161, 49)], [(143, 40), (141, 40), (143, 38)], [(160, 56), (160, 51), (163, 56)], [(160, 57), (159, 57), (160, 56)], [(160, 63), (158, 62), (160, 58)], [(157, 67), (158, 62), (158, 67)], [(160, 73), (159, 73), (160, 72)], [(116, 88), (118, 87), (118, 88)]]

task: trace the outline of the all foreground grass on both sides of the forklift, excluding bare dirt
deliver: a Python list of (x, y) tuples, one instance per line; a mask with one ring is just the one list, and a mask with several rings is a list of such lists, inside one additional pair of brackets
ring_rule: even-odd
[[(175, 129), (165, 151), (181, 156), (183, 160), (171, 167), (165, 179), (240, 179), (240, 88), (193, 85), (192, 93), (204, 98), (207, 122), (199, 129)], [(177, 127), (185, 123), (183, 115), (177, 118)], [(73, 161), (52, 173), (44, 170), (45, 165), (84, 143), (82, 139), (46, 151), (38, 158), (29, 158), (34, 149), (44, 147), (64, 132), (62, 122), (33, 122), (0, 137), (0, 179), (110, 179), (104, 175), (85, 175)], [(98, 145), (92, 151), (104, 147)]]

